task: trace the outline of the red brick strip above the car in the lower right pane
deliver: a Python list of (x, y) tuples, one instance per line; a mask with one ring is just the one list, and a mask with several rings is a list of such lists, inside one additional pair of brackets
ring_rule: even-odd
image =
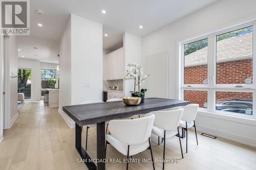
[(252, 92), (216, 91), (216, 102), (232, 99), (252, 99)]

